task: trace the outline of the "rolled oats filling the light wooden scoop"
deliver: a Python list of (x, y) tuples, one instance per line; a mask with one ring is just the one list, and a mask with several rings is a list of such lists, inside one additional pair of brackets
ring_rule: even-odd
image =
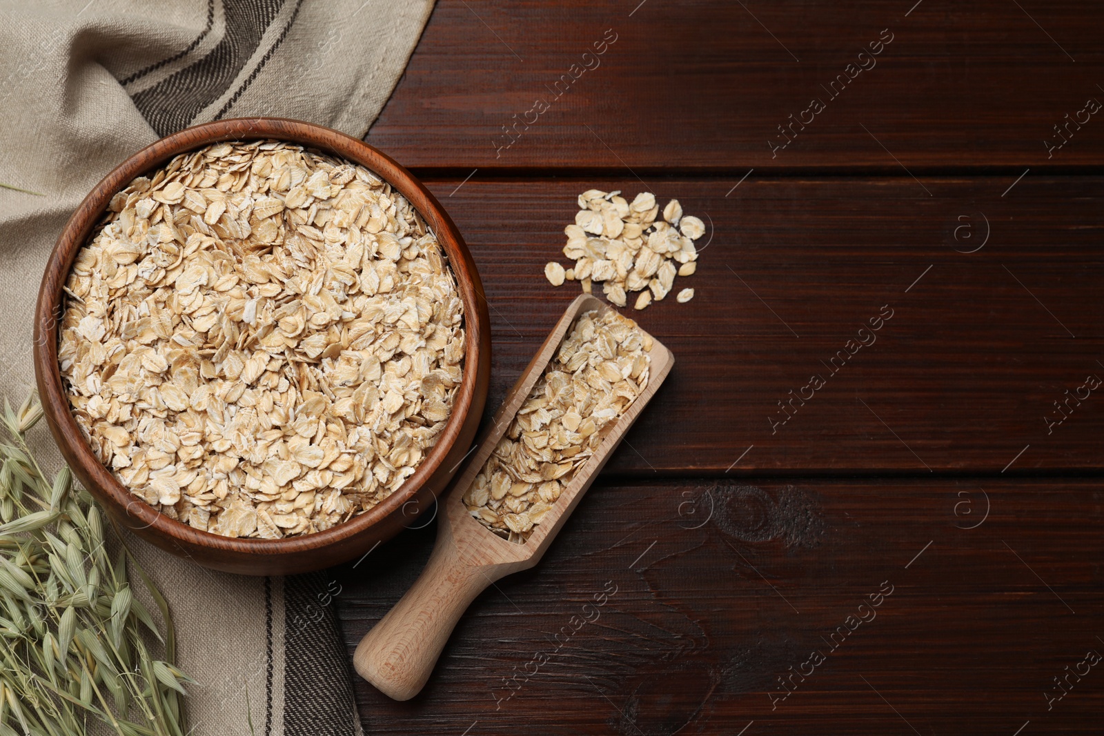
[(648, 385), (650, 348), (615, 310), (581, 314), (464, 493), (468, 512), (510, 542), (529, 538)]

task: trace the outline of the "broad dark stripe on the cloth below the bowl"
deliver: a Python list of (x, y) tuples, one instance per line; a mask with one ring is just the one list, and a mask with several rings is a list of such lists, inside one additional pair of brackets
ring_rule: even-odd
[(284, 578), (284, 735), (353, 736), (355, 705), (333, 596), (319, 573)]

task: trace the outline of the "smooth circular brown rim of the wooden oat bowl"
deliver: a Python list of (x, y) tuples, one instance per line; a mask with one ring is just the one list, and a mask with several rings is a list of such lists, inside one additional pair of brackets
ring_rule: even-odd
[[(433, 226), (445, 252), (464, 301), (464, 376), (453, 403), (447, 424), (414, 472), (386, 499), (365, 512), (322, 532), (278, 540), (230, 537), (203, 531), (170, 519), (132, 494), (93, 454), (73, 417), (68, 396), (62, 385), (57, 361), (59, 326), (63, 314), (62, 287), (76, 254), (102, 223), (112, 198), (138, 177), (156, 171), (172, 158), (212, 143), (227, 140), (284, 140), (317, 149), (323, 153), (363, 166), (411, 202), (415, 211)], [(75, 458), (92, 479), (94, 495), (125, 514), (131, 529), (153, 530), (168, 541), (205, 547), (216, 552), (258, 558), (287, 553), (321, 550), (367, 533), (378, 523), (402, 510), (442, 467), (464, 430), (476, 401), (480, 373), (480, 344), (489, 326), (482, 282), (463, 236), (436, 198), (404, 167), (375, 147), (338, 130), (289, 118), (245, 117), (205, 122), (177, 131), (142, 148), (113, 169), (84, 198), (57, 237), (43, 273), (34, 316), (34, 370), (40, 401), (54, 438), (67, 458)], [(486, 332), (489, 335), (489, 332)], [(443, 489), (442, 489), (443, 490)], [(99, 491), (99, 492), (97, 492)], [(413, 520), (423, 509), (411, 513)], [(135, 523), (131, 523), (135, 522)], [(374, 547), (373, 547), (374, 548)]]

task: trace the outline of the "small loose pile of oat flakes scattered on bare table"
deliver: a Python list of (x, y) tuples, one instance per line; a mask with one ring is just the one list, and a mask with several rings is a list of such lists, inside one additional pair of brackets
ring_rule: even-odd
[[(620, 192), (592, 189), (578, 195), (575, 223), (564, 228), (567, 244), (563, 254), (575, 262), (566, 271), (550, 263), (544, 275), (553, 286), (577, 280), (585, 294), (602, 284), (606, 300), (625, 307), (636, 291), (634, 309), (661, 301), (675, 286), (676, 276), (697, 270), (698, 250), (693, 242), (705, 233), (698, 217), (683, 215), (678, 200), (662, 209), (650, 192), (640, 192), (631, 202)], [(680, 291), (679, 302), (687, 291)], [(690, 289), (692, 296), (692, 289)], [(647, 295), (647, 296), (645, 296)]]

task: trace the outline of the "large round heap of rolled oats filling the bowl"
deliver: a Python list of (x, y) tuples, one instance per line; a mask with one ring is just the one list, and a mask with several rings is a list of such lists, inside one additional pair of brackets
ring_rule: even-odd
[(225, 536), (367, 511), (437, 441), (463, 302), (408, 201), (278, 141), (183, 153), (116, 194), (68, 277), (59, 360), (93, 451)]

